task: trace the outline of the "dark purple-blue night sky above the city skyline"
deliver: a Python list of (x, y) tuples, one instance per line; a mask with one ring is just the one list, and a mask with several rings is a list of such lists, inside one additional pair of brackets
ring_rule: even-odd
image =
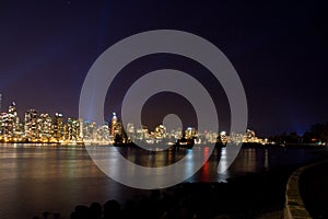
[[(104, 50), (132, 34), (171, 28), (197, 34), (227, 56), (245, 88), (248, 125), (258, 134), (303, 134), (328, 120), (327, 1), (1, 1), (0, 27), (2, 110), (15, 101), (21, 116), (28, 108), (78, 116), (84, 77)], [(148, 58), (129, 65), (118, 83), (168, 66), (189, 70), (211, 91), (220, 87), (190, 60)], [(106, 101), (108, 115), (119, 111), (125, 91), (116, 87)], [(219, 108), (226, 102), (222, 94), (213, 97), (222, 97)], [(157, 100), (163, 105), (165, 97)], [(184, 100), (177, 100), (179, 106)], [(161, 114), (154, 103), (144, 113), (151, 119)], [(229, 110), (219, 114), (227, 127)]]

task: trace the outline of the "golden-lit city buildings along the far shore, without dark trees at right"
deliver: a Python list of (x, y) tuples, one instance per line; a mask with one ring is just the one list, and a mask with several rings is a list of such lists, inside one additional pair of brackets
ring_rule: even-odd
[(56, 113), (39, 114), (36, 110), (25, 112), (21, 120), (15, 103), (12, 103), (8, 112), (0, 114), (0, 141), (1, 142), (37, 142), (37, 143), (60, 143), (60, 145), (114, 145), (130, 142), (147, 142), (150, 145), (174, 145), (180, 139), (191, 140), (192, 143), (222, 143), (234, 142), (258, 142), (267, 143), (267, 139), (256, 137), (255, 131), (248, 130), (245, 134), (225, 131), (198, 131), (188, 127), (167, 130), (165, 126), (159, 125), (150, 131), (147, 126), (134, 127), (129, 123), (122, 128), (120, 119), (113, 113), (109, 123), (97, 125), (83, 118), (63, 119), (63, 115)]

